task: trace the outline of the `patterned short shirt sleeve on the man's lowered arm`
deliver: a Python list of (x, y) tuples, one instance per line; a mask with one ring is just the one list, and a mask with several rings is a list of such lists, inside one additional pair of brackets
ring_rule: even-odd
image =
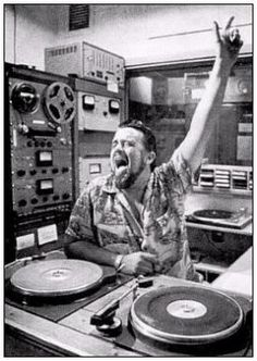
[(93, 207), (89, 186), (87, 186), (78, 197), (72, 210), (65, 233), (77, 239), (86, 238), (87, 240), (94, 241)]

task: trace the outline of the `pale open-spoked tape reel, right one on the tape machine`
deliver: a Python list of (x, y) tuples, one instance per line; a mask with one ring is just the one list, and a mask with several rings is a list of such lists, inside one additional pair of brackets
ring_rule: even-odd
[(76, 101), (72, 88), (60, 82), (47, 87), (44, 96), (47, 116), (57, 124), (71, 122), (76, 112)]

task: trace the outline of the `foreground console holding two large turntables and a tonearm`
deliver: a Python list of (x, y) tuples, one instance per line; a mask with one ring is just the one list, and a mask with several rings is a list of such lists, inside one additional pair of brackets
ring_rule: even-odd
[[(26, 325), (26, 333), (33, 335), (26, 315), (36, 319), (37, 325), (48, 320), (45, 337), (52, 333), (52, 345), (63, 329), (63, 337), (71, 333), (74, 338), (65, 339), (63, 354), (79, 354), (71, 349), (82, 336), (82, 348), (87, 347), (91, 356), (250, 352), (249, 300), (164, 275), (132, 278), (86, 261), (36, 261), (10, 275), (5, 303), (7, 325), (14, 324), (16, 314), (15, 327)], [(60, 335), (51, 327), (60, 327)], [(44, 343), (44, 331), (38, 340)]]

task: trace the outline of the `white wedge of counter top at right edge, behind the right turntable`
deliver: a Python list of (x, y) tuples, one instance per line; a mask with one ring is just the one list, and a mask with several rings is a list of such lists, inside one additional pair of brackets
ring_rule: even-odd
[(253, 297), (252, 281), (253, 247), (242, 254), (223, 274), (216, 278), (211, 286), (237, 294), (248, 298)]

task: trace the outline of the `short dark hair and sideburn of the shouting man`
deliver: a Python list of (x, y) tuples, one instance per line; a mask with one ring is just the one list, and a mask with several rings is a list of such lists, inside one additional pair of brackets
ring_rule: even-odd
[[(142, 121), (137, 120), (127, 120), (119, 125), (119, 128), (133, 128), (139, 130), (144, 135), (144, 145), (148, 151), (154, 151), (157, 154), (156, 147), (156, 137), (152, 130), (147, 127)], [(154, 161), (150, 165), (151, 171), (156, 166), (156, 161)]]

